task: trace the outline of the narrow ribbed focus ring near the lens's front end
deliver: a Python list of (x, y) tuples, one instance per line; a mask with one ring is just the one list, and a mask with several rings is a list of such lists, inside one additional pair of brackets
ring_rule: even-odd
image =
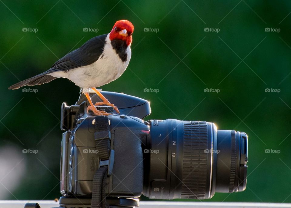
[(235, 177), (236, 177), (236, 131), (231, 131), (231, 161), (230, 161), (229, 193), (233, 193), (234, 191)]

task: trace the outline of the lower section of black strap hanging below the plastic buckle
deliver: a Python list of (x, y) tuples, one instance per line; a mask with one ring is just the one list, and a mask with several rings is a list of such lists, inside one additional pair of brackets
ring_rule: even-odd
[(109, 208), (105, 195), (106, 177), (106, 166), (100, 167), (96, 170), (93, 179), (91, 208)]

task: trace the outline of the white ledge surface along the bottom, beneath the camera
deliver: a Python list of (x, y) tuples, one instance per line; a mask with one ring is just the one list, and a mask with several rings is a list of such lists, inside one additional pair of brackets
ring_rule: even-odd
[[(2, 200), (0, 201), (0, 208), (23, 208), (25, 203), (38, 203), (41, 208), (50, 208), (50, 207), (57, 207), (59, 206), (58, 202), (55, 201), (26, 201), (26, 200), (19, 200), (19, 201), (9, 201), (9, 200)], [(269, 208), (269, 207), (290, 207), (291, 204), (287, 203), (232, 203), (232, 202), (139, 202), (140, 208)]]

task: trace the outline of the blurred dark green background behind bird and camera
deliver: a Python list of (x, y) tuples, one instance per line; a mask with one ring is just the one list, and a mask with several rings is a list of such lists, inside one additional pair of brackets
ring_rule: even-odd
[(208, 201), (290, 203), (290, 11), (290, 1), (272, 0), (1, 0), (1, 199), (59, 198), (60, 107), (79, 97), (65, 79), (29, 87), (37, 93), (7, 88), (128, 19), (135, 26), (129, 68), (102, 90), (149, 100), (146, 119), (202, 120), (248, 133), (246, 190)]

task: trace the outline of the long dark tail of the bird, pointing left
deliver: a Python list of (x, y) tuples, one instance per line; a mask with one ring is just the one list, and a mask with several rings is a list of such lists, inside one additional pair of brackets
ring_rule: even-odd
[(56, 79), (57, 77), (53, 77), (51, 75), (48, 75), (48, 74), (39, 74), (39, 75), (36, 75), (34, 77), (31, 77), (31, 78), (28, 78), (28, 79), (25, 79), (23, 80), (22, 82), (18, 82), (10, 87), (8, 87), (8, 89), (18, 89), (20, 87), (23, 87), (23, 86), (35, 86), (35, 85), (41, 85), (41, 84), (44, 84), (44, 83), (48, 83), (54, 79)]

